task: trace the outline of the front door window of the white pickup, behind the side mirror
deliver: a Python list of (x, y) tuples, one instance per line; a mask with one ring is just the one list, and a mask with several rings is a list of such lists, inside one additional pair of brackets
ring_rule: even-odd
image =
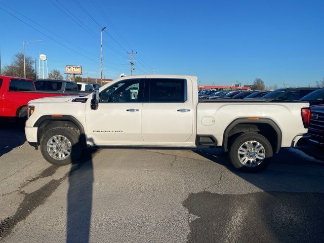
[(100, 93), (100, 103), (142, 102), (143, 80), (128, 79), (114, 84)]

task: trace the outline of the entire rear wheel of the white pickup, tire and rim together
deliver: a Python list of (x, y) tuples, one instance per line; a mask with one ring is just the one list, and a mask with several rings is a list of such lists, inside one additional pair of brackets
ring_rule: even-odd
[(243, 133), (233, 140), (228, 155), (236, 169), (258, 172), (270, 163), (272, 147), (270, 142), (258, 133)]

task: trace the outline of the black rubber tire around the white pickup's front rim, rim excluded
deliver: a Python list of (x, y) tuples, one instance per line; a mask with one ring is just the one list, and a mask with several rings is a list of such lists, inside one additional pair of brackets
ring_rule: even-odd
[[(51, 157), (51, 155), (47, 151), (47, 142), (50, 140), (50, 138), (52, 138), (55, 135), (64, 136), (71, 143), (70, 155), (67, 156), (65, 159), (61, 159), (61, 160), (55, 159)], [(79, 137), (80, 137), (79, 133), (73, 128), (68, 128), (68, 127), (53, 128), (47, 131), (42, 136), (40, 142), (41, 152), (44, 158), (53, 165), (64, 166), (72, 163), (76, 164), (78, 163), (78, 157), (80, 156), (81, 153), (81, 145), (80, 145)]]

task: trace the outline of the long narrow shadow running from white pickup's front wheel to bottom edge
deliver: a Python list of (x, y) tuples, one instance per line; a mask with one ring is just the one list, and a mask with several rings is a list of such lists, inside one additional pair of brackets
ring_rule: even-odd
[(79, 158), (72, 158), (75, 165), (72, 165), (68, 175), (67, 192), (66, 242), (68, 243), (89, 242), (94, 183), (92, 158), (97, 152), (96, 149), (88, 148)]

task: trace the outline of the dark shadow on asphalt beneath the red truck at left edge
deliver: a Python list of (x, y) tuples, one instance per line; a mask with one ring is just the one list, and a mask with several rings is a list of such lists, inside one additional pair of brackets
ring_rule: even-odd
[(25, 132), (13, 121), (0, 121), (0, 157), (21, 146), (26, 141)]

